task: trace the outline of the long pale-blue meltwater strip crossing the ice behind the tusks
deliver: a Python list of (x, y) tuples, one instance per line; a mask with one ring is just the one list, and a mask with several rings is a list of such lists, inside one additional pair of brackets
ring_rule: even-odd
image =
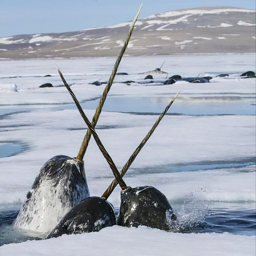
[[(125, 113), (162, 113), (173, 97), (129, 97), (108, 96), (103, 111)], [(95, 110), (99, 99), (81, 103), (83, 109)], [(255, 115), (255, 97), (240, 98), (231, 96), (207, 96), (177, 98), (167, 113), (184, 115)], [(53, 110), (76, 109), (72, 104), (37, 104), (1, 106), (0, 116), (34, 109), (51, 108)]]

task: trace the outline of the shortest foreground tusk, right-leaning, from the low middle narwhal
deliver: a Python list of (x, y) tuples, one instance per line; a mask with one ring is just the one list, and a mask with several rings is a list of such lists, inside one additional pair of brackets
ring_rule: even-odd
[[(179, 91), (180, 92), (180, 91)], [(168, 109), (170, 108), (170, 106), (173, 104), (174, 100), (176, 99), (176, 97), (178, 96), (179, 92), (175, 95), (175, 97), (172, 99), (172, 101), (168, 104), (168, 106), (166, 107), (166, 109), (163, 111), (163, 113), (159, 116), (159, 118), (157, 119), (157, 121), (155, 122), (155, 124), (153, 125), (153, 127), (150, 129), (150, 131), (148, 132), (148, 134), (146, 135), (146, 137), (142, 140), (141, 144), (136, 148), (136, 150), (133, 152), (133, 154), (131, 155), (131, 157), (129, 158), (129, 160), (127, 161), (127, 163), (124, 165), (124, 167), (122, 168), (120, 175), (121, 177), (123, 177), (125, 175), (125, 173), (127, 172), (127, 170), (129, 169), (129, 167), (131, 166), (131, 164), (133, 163), (134, 159), (136, 158), (136, 156), (138, 155), (138, 153), (141, 151), (141, 149), (143, 148), (143, 146), (146, 144), (146, 142), (148, 141), (148, 139), (150, 138), (150, 136), (152, 135), (152, 133), (154, 132), (154, 130), (156, 129), (157, 125), (160, 123), (160, 121), (162, 120), (162, 118), (164, 117), (165, 113), (168, 111)], [(104, 194), (101, 196), (103, 199), (108, 199), (108, 197), (110, 196), (110, 194), (112, 193), (112, 191), (114, 190), (114, 188), (117, 185), (117, 181), (113, 180), (112, 183), (110, 184), (110, 186), (106, 189), (106, 191), (104, 192)]]

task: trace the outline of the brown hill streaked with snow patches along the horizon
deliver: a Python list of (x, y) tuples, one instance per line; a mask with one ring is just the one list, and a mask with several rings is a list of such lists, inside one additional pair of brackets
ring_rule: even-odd
[[(159, 13), (136, 22), (125, 53), (255, 52), (255, 23), (255, 10), (236, 7)], [(0, 58), (116, 56), (130, 24), (0, 38)]]

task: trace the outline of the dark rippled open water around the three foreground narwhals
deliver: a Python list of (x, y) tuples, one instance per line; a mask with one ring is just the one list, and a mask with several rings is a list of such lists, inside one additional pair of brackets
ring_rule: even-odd
[[(174, 209), (175, 210), (175, 209)], [(45, 234), (23, 231), (14, 228), (12, 223), (19, 210), (7, 208), (0, 210), (0, 246), (8, 243), (20, 243), (27, 240), (41, 240)], [(119, 208), (115, 208), (118, 215)], [(189, 215), (181, 210), (176, 213), (179, 220), (178, 232), (182, 233), (224, 233), (252, 236), (256, 235), (256, 210), (245, 208), (217, 208), (193, 212)], [(185, 217), (184, 217), (185, 216)]]

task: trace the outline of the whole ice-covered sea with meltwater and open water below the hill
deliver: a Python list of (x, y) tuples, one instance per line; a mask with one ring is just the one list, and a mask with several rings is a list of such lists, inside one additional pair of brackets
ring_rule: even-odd
[[(233, 75), (206, 84), (120, 83), (144, 79), (138, 73), (163, 60), (168, 77)], [(108, 80), (115, 58), (56, 61), (91, 119), (105, 86), (89, 83)], [(41, 241), (26, 241), (44, 234), (11, 223), (41, 166), (55, 155), (76, 156), (87, 128), (50, 60), (1, 60), (0, 67), (0, 244), (9, 243), (1, 255), (255, 255), (255, 78), (238, 77), (255, 72), (255, 54), (125, 57), (120, 64), (118, 72), (129, 75), (116, 76), (96, 126), (118, 169), (181, 90), (125, 176), (132, 187), (151, 185), (166, 195), (178, 233), (114, 226)], [(38, 88), (46, 82), (55, 87)], [(9, 153), (3, 145), (21, 148)], [(113, 174), (93, 140), (84, 161), (90, 193), (101, 196)], [(119, 188), (109, 201), (119, 207)]]

